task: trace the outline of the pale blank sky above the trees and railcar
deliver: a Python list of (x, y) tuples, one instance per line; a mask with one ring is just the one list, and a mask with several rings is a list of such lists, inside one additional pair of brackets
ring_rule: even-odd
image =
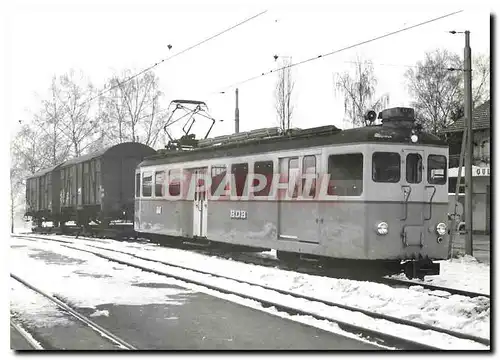
[[(462, 13), (292, 68), (295, 81), (292, 126), (345, 127), (342, 94), (334, 73), (353, 71), (357, 58), (371, 60), (378, 95), (389, 106), (409, 106), (403, 74), (426, 51), (463, 54), (471, 31), (472, 55), (489, 54), (492, 3), (299, 2), (299, 1), (18, 1), (5, 13), (5, 90), (10, 133), (30, 121), (47, 97), (52, 76), (82, 71), (99, 89), (123, 69), (134, 73), (168, 59), (261, 12), (264, 14), (154, 68), (173, 99), (205, 101), (223, 120), (212, 135), (234, 131), (234, 90), (239, 88), (240, 131), (278, 125), (274, 108), (274, 55), (293, 63), (327, 54), (448, 13)], [(168, 45), (172, 48), (169, 50)], [(240, 84), (238, 84), (240, 83)], [(222, 94), (221, 92), (224, 92)], [(204, 134), (206, 122), (196, 129)]]

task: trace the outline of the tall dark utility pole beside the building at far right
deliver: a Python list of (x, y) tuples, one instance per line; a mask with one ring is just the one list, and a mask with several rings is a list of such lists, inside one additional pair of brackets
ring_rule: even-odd
[(465, 128), (468, 132), (465, 151), (465, 253), (472, 256), (472, 155), (474, 136), (472, 132), (472, 66), (470, 31), (465, 31), (464, 67)]

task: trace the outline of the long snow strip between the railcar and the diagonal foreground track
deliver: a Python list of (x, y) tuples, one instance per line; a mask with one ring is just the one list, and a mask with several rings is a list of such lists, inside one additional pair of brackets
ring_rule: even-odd
[[(61, 237), (57, 238), (61, 239)], [(23, 242), (22, 240), (18, 241)], [(87, 243), (96, 245), (96, 243), (92, 240), (72, 239), (71, 241), (77, 244)], [(27, 242), (24, 241), (24, 243)], [(76, 256), (74, 253), (75, 250), (62, 250), (63, 248), (61, 248), (57, 243), (44, 243), (45, 246), (50, 247), (52, 251), (73, 251), (73, 256)], [(450, 296), (449, 298), (441, 298), (433, 296), (432, 293), (427, 291), (423, 291), (421, 287), (415, 287), (415, 289), (409, 290), (393, 289), (386, 285), (371, 282), (331, 279), (320, 276), (298, 274), (295, 272), (272, 269), (258, 265), (243, 264), (240, 262), (196, 254), (189, 251), (162, 248), (149, 244), (121, 243), (109, 240), (100, 241), (98, 245), (109, 247), (110, 249), (120, 248), (121, 250), (135, 252), (138, 255), (151, 259), (169, 261), (200, 270), (209, 270), (221, 275), (230, 274), (231, 276), (240, 279), (310, 296), (312, 295), (319, 299), (343, 303), (350, 306), (359, 306), (368, 310), (412, 321), (420, 321), (438, 327), (471, 333), (476, 336), (489, 337), (490, 304), (489, 300), (486, 298), (469, 299), (457, 295)], [(423, 332), (406, 326), (394, 325), (384, 320), (373, 320), (361, 313), (353, 313), (319, 303), (315, 304), (299, 300), (249, 285), (235, 283), (234, 281), (221, 280), (207, 275), (196, 274), (187, 270), (169, 268), (158, 263), (138, 260), (127, 255), (110, 253), (105, 250), (93, 248), (92, 251), (107, 253), (106, 255), (113, 258), (126, 259), (129, 262), (140, 264), (148, 268), (168, 271), (205, 283), (209, 282), (211, 284), (230, 288), (232, 290), (237, 289), (242, 293), (253, 296), (262, 296), (268, 300), (279, 299), (279, 301), (277, 301), (279, 303), (306, 309), (308, 311), (316, 311), (321, 315), (329, 315), (335, 319), (346, 322), (354, 322), (362, 326), (369, 324), (371, 328), (378, 329), (380, 331), (390, 332), (397, 336), (405, 334), (407, 337), (415, 339), (416, 341), (432, 343), (442, 348), (464, 349), (471, 348), (471, 346), (476, 346), (475, 348), (484, 348), (481, 346), (477, 347), (477, 344), (471, 345), (469, 342), (464, 340), (450, 339), (446, 335), (436, 334), (434, 332)], [(92, 255), (79, 254), (78, 257), (92, 257)], [(102, 261), (102, 259), (100, 260)], [(103, 269), (99, 268), (99, 272), (103, 273)], [(132, 274), (130, 274), (130, 276), (132, 276)], [(46, 278), (50, 279), (51, 277), (46, 275)], [(187, 286), (193, 289), (193, 286)], [(203, 290), (203, 292), (210, 293), (211, 291)], [(75, 294), (73, 294), (73, 290), (71, 291), (71, 296), (75, 296)], [(220, 293), (215, 296), (221, 297)], [(227, 296), (222, 297), (227, 298)], [(82, 296), (81, 300), (83, 302), (88, 302), (85, 296)], [(238, 302), (241, 302), (241, 298)], [(248, 302), (248, 300), (246, 300), (246, 302)], [(246, 305), (248, 306), (248, 304)]]

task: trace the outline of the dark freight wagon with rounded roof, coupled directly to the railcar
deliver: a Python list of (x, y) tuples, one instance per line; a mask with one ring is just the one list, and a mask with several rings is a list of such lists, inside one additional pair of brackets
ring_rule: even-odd
[(122, 143), (66, 161), (60, 166), (61, 220), (78, 225), (107, 224), (134, 216), (137, 165), (156, 151), (141, 143)]

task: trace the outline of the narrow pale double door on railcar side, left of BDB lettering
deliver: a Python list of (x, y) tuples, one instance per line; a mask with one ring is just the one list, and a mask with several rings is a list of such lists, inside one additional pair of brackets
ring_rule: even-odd
[(193, 169), (191, 186), (193, 186), (193, 236), (207, 236), (208, 202), (206, 176), (208, 168)]

